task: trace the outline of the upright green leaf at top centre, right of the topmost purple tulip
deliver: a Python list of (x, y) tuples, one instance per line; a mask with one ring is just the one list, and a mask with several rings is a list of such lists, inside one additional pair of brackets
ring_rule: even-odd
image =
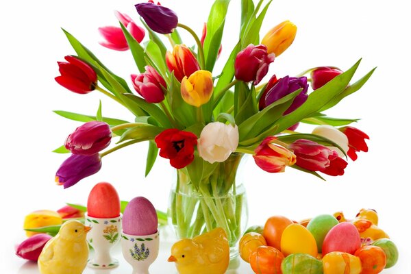
[(207, 35), (204, 40), (204, 56), (208, 71), (214, 68), (219, 53), (228, 5), (229, 0), (215, 0), (208, 16)]

